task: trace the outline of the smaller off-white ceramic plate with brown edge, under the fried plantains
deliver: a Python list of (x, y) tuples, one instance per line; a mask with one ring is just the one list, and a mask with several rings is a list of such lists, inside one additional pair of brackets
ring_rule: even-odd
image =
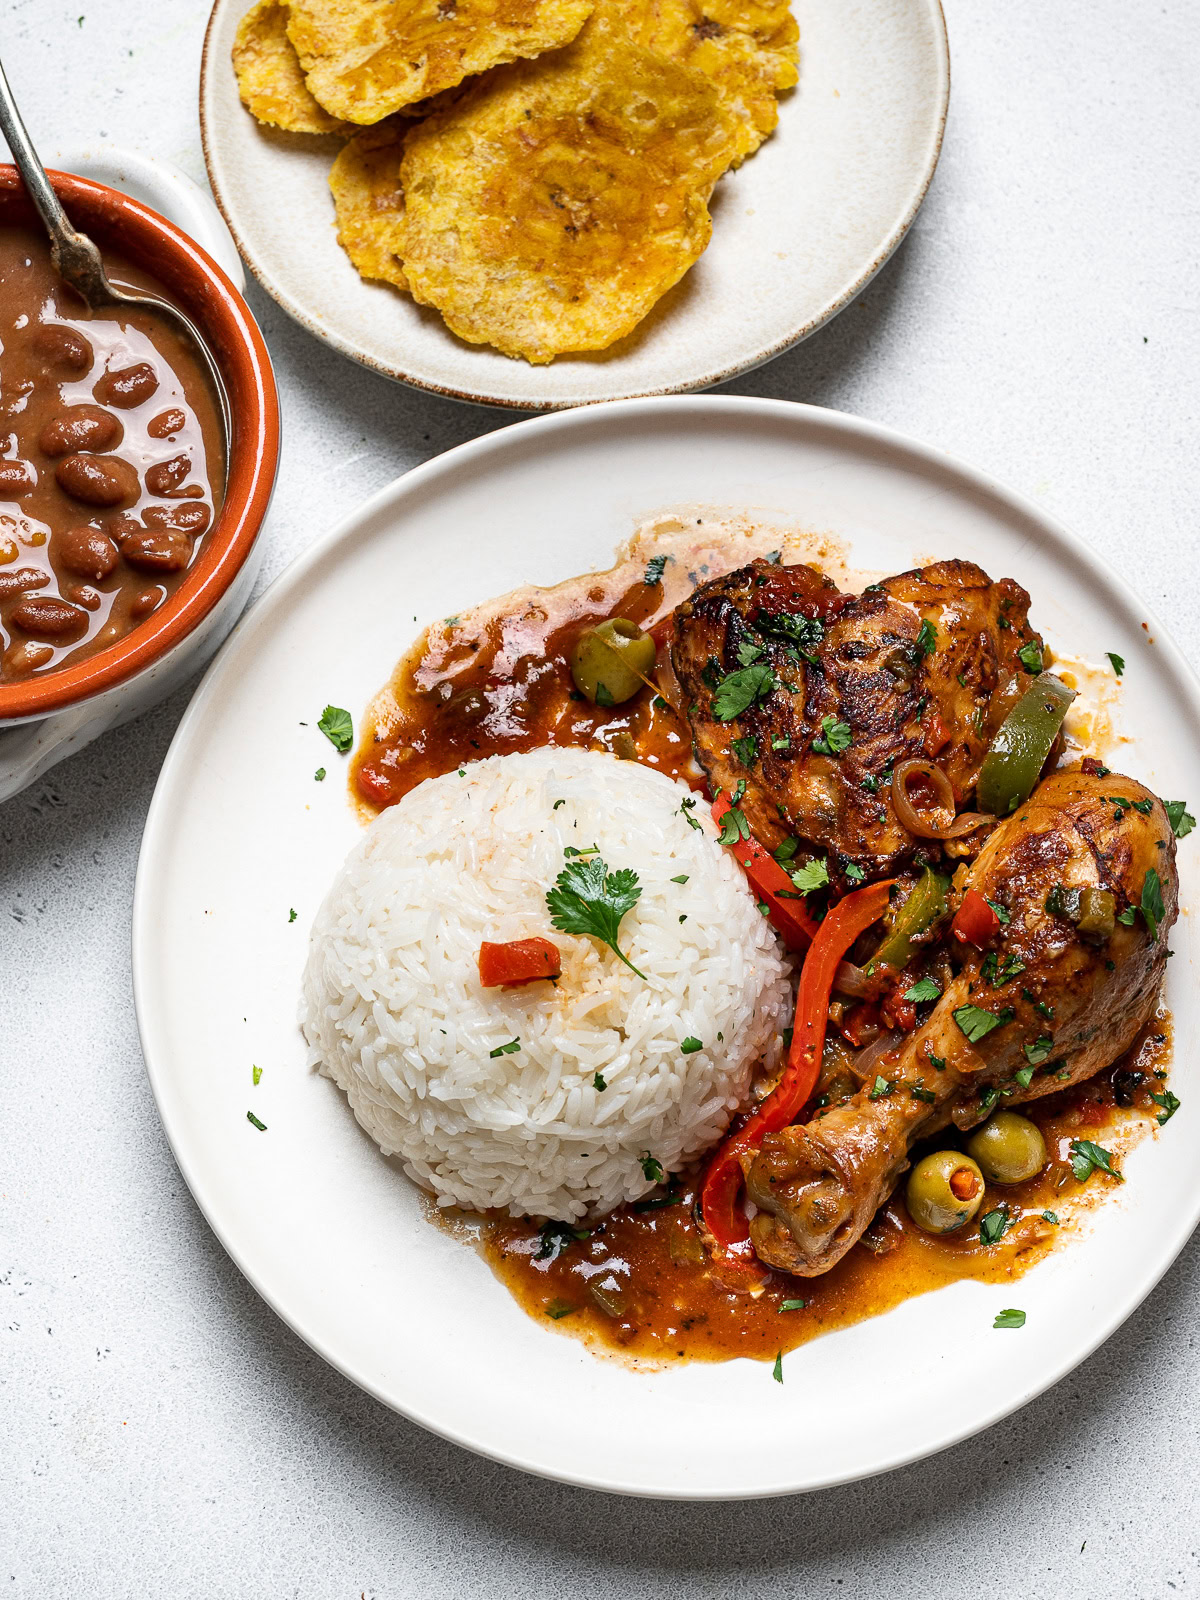
[(950, 67), (939, 0), (794, 0), (800, 83), (779, 128), (717, 186), (712, 243), (611, 350), (550, 366), (466, 344), (334, 238), (338, 141), (264, 128), (229, 51), (250, 0), (218, 0), (200, 123), (213, 194), (246, 264), (299, 323), (389, 378), (541, 410), (702, 389), (770, 360), (846, 306), (917, 214), (938, 163)]

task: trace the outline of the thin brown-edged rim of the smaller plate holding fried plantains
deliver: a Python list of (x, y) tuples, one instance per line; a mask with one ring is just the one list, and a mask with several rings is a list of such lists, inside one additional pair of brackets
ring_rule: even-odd
[[(230, 214), (226, 203), (226, 197), (214, 174), (214, 155), (211, 146), (216, 144), (214, 136), (208, 125), (208, 82), (210, 67), (213, 66), (214, 56), (214, 32), (216, 24), (221, 16), (234, 5), (242, 5), (243, 0), (213, 0), (213, 10), (210, 11), (208, 22), (205, 26), (205, 38), (200, 48), (200, 88), (198, 88), (198, 112), (200, 112), (200, 147), (205, 158), (205, 173), (208, 176), (208, 187), (213, 192), (213, 200), (221, 213), (221, 218), (229, 229), (237, 251), (242, 261), (250, 267), (254, 282), (266, 290), (266, 293), (275, 301), (275, 304), (286, 312), (286, 315), (310, 333), (314, 338), (320, 339), (330, 349), (336, 350), (339, 355), (349, 357), (368, 371), (378, 373), (381, 378), (389, 378), (392, 382), (405, 384), (410, 389), (421, 390), (424, 394), (435, 394), (446, 400), (459, 400), (466, 405), (493, 406), (504, 411), (563, 411), (573, 406), (594, 406), (594, 405), (616, 405), (624, 400), (651, 400), (662, 398), (667, 395), (693, 394), (696, 390), (712, 389), (717, 384), (730, 382), (734, 378), (741, 378), (744, 373), (752, 373), (758, 366), (765, 366), (766, 362), (774, 360), (794, 346), (802, 344), (805, 339), (811, 338), (826, 323), (832, 322), (840, 312), (843, 312), (862, 290), (870, 283), (870, 280), (888, 264), (891, 256), (901, 246), (909, 234), (909, 229), (917, 219), (917, 213), (925, 203), (925, 197), (930, 192), (930, 184), (938, 171), (938, 162), (941, 158), (942, 142), (946, 139), (946, 118), (949, 115), (950, 104), (950, 37), (946, 26), (946, 11), (942, 0), (912, 0), (915, 5), (922, 5), (933, 24), (934, 35), (934, 51), (936, 51), (936, 72), (938, 72), (938, 107), (933, 120), (933, 138), (930, 141), (930, 149), (925, 160), (925, 170), (909, 198), (904, 214), (891, 230), (883, 237), (882, 243), (877, 246), (870, 262), (859, 270), (859, 275), (853, 278), (848, 285), (843, 285), (837, 294), (829, 299), (821, 310), (810, 317), (806, 322), (800, 323), (794, 331), (776, 339), (774, 344), (766, 349), (757, 350), (747, 355), (746, 360), (733, 362), (731, 365), (720, 368), (717, 371), (709, 371), (699, 378), (688, 379), (678, 384), (664, 384), (656, 389), (638, 389), (630, 390), (618, 397), (576, 397), (576, 398), (550, 398), (550, 400), (531, 400), (523, 397), (501, 397), (494, 394), (475, 392), (470, 389), (456, 389), (451, 384), (438, 384), (427, 378), (416, 378), (413, 373), (405, 371), (402, 366), (392, 366), (387, 362), (370, 355), (366, 350), (357, 347), (352, 341), (344, 339), (341, 334), (328, 328), (318, 317), (306, 310), (280, 283), (277, 283), (272, 274), (261, 266), (254, 254), (246, 246), (242, 234), (238, 232), (238, 224)], [(453, 334), (448, 334), (453, 338)]]

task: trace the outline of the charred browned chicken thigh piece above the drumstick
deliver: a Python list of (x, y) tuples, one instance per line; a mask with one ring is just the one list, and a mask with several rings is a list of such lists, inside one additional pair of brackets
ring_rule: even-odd
[[(848, 862), (878, 878), (920, 851), (936, 856), (896, 819), (891, 770), (936, 760), (962, 803), (1035, 670), (1018, 654), (1042, 646), (1027, 611), (1019, 584), (992, 582), (971, 562), (938, 562), (861, 595), (811, 566), (752, 562), (675, 616), (670, 659), (698, 758), (714, 787), (746, 781), (741, 808), (768, 850), (790, 834), (829, 851), (837, 890), (850, 886)], [(770, 667), (774, 686), (722, 720), (718, 686), (747, 664)], [(814, 749), (826, 717), (848, 726), (843, 750)]]

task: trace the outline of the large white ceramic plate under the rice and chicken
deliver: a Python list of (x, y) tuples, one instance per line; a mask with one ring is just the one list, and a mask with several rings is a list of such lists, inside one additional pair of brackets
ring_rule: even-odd
[[(723, 397), (587, 406), (410, 472), (243, 619), (179, 726), (150, 808), (134, 992), (192, 1194), (251, 1283), (326, 1360), (426, 1427), (531, 1472), (634, 1494), (742, 1498), (941, 1450), (1107, 1338), (1197, 1221), (1187, 1118), (1200, 1067), (1181, 1053), (1184, 1110), (1133, 1150), (1128, 1181), (1090, 1230), (1016, 1294), (960, 1282), (910, 1299), (787, 1355), (782, 1387), (762, 1362), (637, 1373), (594, 1357), (526, 1317), (469, 1246), (426, 1221), (414, 1187), (304, 1064), (307, 928), (362, 826), (347, 758), (317, 718), (330, 701), (358, 718), (427, 622), (605, 566), (643, 518), (693, 507), (832, 531), (867, 568), (958, 555), (1019, 579), (1051, 643), (1101, 662), (1109, 650), (1125, 656), (1122, 768), (1168, 797), (1200, 797), (1195, 682), (1146, 608), (1035, 506), (835, 411)], [(328, 779), (314, 782), (320, 766)], [(1179, 851), (1186, 885), (1197, 838)], [(1200, 1026), (1195, 942), (1184, 917), (1170, 978), (1181, 1040)], [(1014, 1302), (1024, 1330), (995, 1333), (995, 1314)], [(763, 1408), (770, 1427), (747, 1427)]]

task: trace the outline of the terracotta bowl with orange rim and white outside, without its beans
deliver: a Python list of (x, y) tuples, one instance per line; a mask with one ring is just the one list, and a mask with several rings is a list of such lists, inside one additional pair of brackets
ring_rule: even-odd
[[(278, 394), (258, 323), (213, 258), (117, 189), (51, 171), (72, 222), (152, 272), (203, 331), (229, 390), (234, 437), (221, 512), (170, 600), (125, 638), (61, 672), (0, 683), (0, 798), (182, 683), (250, 598), (256, 539), (278, 464)], [(0, 165), (0, 224), (38, 226), (13, 166)], [(22, 725), (22, 726), (14, 726)]]

